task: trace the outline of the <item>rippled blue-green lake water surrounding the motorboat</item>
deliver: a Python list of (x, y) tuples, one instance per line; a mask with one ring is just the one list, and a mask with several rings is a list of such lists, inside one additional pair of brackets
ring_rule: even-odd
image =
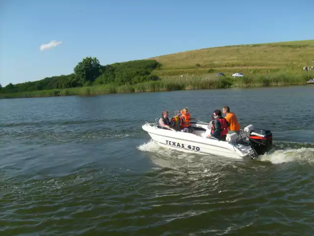
[[(0, 100), (0, 235), (314, 235), (314, 87)], [(162, 110), (228, 105), (261, 161), (160, 148)]]

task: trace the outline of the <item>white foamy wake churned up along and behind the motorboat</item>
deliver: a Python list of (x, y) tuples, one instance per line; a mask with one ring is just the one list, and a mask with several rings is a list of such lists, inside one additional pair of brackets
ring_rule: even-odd
[[(287, 145), (286, 145), (287, 146)], [(285, 147), (282, 149), (274, 150), (270, 153), (265, 153), (259, 158), (259, 161), (262, 162), (271, 162), (272, 164), (280, 164), (287, 162), (308, 162), (314, 164), (314, 148), (308, 147), (309, 145), (305, 145), (306, 147), (302, 147), (301, 145), (298, 148), (293, 144), (293, 148)], [(312, 146), (312, 145), (311, 145)], [(198, 153), (184, 153), (178, 152), (177, 150), (162, 148), (157, 145), (153, 140), (144, 143), (137, 147), (138, 150), (147, 151), (155, 154), (155, 158), (160, 158), (171, 156), (172, 160), (175, 159), (186, 159), (188, 162), (196, 161), (197, 159), (203, 159), (202, 154)], [(197, 158), (199, 157), (199, 158)], [(227, 158), (213, 156), (210, 158), (210, 161), (213, 160), (226, 160)], [(230, 158), (228, 158), (230, 160)], [(235, 159), (235, 158), (232, 158)], [(235, 159), (239, 160), (239, 159)], [(166, 160), (164, 160), (166, 161)], [(258, 161), (258, 160), (257, 160)]]

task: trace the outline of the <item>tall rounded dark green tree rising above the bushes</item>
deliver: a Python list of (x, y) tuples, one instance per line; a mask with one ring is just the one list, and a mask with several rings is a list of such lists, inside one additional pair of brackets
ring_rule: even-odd
[(86, 57), (74, 67), (74, 73), (78, 76), (79, 81), (94, 82), (101, 74), (101, 65), (97, 58)]

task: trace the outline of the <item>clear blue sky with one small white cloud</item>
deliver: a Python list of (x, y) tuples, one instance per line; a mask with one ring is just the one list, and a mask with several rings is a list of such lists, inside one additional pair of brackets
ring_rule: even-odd
[(314, 39), (314, 1), (0, 0), (0, 84), (236, 44)]

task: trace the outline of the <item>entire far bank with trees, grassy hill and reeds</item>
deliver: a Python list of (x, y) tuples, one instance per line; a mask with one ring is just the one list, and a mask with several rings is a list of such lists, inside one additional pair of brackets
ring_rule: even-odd
[[(262, 51), (261, 51), (262, 50)], [(0, 86), (0, 98), (305, 85), (314, 40), (238, 45), (101, 65), (87, 57), (70, 75)], [(199, 63), (195, 63), (199, 62)], [(216, 76), (222, 72), (226, 76)], [(244, 77), (232, 77), (242, 73)]]

